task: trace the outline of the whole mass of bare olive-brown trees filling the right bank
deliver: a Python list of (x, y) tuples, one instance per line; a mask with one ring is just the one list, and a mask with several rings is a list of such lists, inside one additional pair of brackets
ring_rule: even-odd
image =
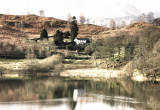
[(107, 36), (101, 41), (92, 41), (85, 51), (92, 55), (94, 66), (103, 64), (114, 69), (132, 61), (132, 71), (138, 69), (147, 76), (156, 77), (160, 72), (159, 36), (158, 27), (144, 27), (134, 35), (120, 32), (115, 37)]

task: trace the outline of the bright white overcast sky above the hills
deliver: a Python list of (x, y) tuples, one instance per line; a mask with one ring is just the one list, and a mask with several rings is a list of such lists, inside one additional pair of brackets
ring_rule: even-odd
[(3, 0), (2, 14), (39, 15), (39, 10), (45, 11), (45, 16), (66, 19), (67, 14), (86, 17), (123, 17), (126, 14), (160, 12), (160, 0)]

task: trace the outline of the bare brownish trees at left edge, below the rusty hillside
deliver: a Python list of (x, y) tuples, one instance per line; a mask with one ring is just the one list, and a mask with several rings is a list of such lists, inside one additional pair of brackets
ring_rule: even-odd
[(55, 45), (53, 42), (43, 40), (39, 42), (26, 41), (20, 43), (0, 42), (0, 56), (8, 58), (45, 58), (53, 54)]

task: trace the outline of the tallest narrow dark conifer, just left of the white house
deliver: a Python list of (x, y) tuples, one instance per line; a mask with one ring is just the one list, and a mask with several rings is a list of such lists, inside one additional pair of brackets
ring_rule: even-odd
[(70, 38), (71, 38), (71, 42), (73, 43), (74, 39), (77, 37), (78, 31), (79, 31), (78, 25), (77, 25), (77, 20), (76, 20), (75, 16), (72, 18), (72, 21), (70, 23), (70, 29), (71, 29)]

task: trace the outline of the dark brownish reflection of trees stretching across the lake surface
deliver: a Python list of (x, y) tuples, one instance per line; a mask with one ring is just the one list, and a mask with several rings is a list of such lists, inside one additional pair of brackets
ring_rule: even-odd
[[(160, 102), (160, 85), (151, 83), (138, 83), (129, 79), (107, 80), (107, 81), (76, 81), (59, 78), (39, 78), (32, 80), (1, 80), (0, 101), (20, 101), (68, 98), (69, 106), (74, 110), (76, 103), (73, 99), (74, 89), (84, 89), (87, 93), (104, 96), (125, 96), (136, 98), (138, 101), (146, 102), (150, 96)], [(18, 97), (17, 97), (18, 96)], [(103, 100), (103, 102), (116, 106), (120, 104), (114, 100)], [(53, 102), (58, 105), (62, 102)], [(147, 103), (147, 102), (146, 102)], [(121, 103), (122, 104), (122, 103)], [(134, 106), (130, 104), (130, 106)]]

